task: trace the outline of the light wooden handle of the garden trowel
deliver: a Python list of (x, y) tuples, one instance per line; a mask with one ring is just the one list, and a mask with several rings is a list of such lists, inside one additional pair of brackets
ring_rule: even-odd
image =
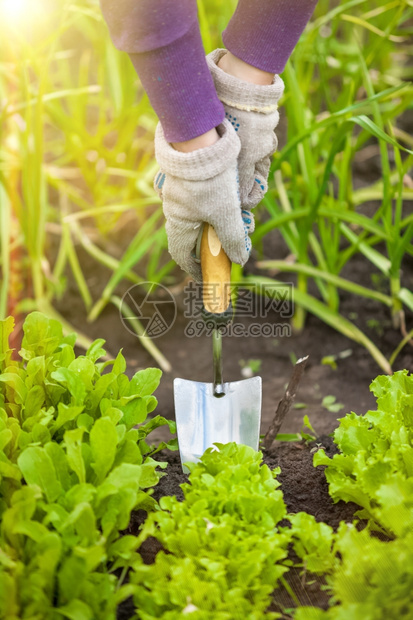
[(222, 314), (231, 303), (231, 261), (212, 226), (205, 223), (201, 240), (201, 269), (204, 309)]

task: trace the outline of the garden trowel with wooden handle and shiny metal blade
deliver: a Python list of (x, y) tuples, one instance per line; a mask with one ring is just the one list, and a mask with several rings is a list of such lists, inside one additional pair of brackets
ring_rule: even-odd
[[(200, 236), (203, 316), (211, 322), (213, 383), (175, 379), (175, 417), (181, 463), (196, 462), (214, 443), (258, 450), (261, 422), (261, 377), (224, 383), (222, 326), (232, 318), (231, 262), (215, 230), (203, 225)], [(187, 471), (187, 468), (183, 468)]]

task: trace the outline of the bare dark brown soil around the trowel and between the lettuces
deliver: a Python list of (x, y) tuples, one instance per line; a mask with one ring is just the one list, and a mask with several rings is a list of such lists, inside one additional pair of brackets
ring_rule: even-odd
[[(409, 262), (411, 259), (408, 259)], [(363, 271), (365, 263), (354, 261), (355, 272), (353, 278), (359, 282), (371, 281), (371, 273)], [(411, 272), (410, 272), (411, 273)], [(410, 279), (406, 269), (406, 280)], [(408, 282), (410, 285), (410, 282)], [(406, 284), (406, 285), (408, 285)], [(182, 294), (181, 294), (182, 297)], [(173, 379), (175, 377), (190, 378), (193, 380), (211, 380), (211, 350), (210, 339), (207, 337), (187, 338), (184, 330), (187, 319), (182, 313), (181, 297), (177, 296), (178, 315), (171, 329), (166, 335), (156, 340), (163, 354), (171, 361), (172, 372), (164, 373), (156, 396), (159, 401), (157, 412), (166, 418), (174, 418)], [(385, 354), (390, 354), (400, 340), (400, 332), (391, 327), (386, 310), (374, 302), (365, 302), (358, 305), (355, 298), (343, 295), (343, 314), (351, 316), (358, 327), (365, 331)], [(180, 307), (181, 306), (181, 307)], [(61, 306), (73, 325), (82, 328), (80, 316), (82, 311), (76, 306)], [(355, 314), (357, 317), (355, 318)], [(374, 319), (374, 320), (372, 320)], [(280, 321), (280, 317), (273, 313), (270, 319)], [(243, 319), (248, 325), (249, 319)], [(128, 372), (133, 373), (139, 368), (153, 365), (149, 354), (142, 348), (137, 338), (133, 338), (122, 325), (117, 310), (108, 306), (99, 319), (90, 325), (89, 333), (92, 337), (99, 334), (107, 336), (109, 351), (116, 351), (123, 347), (127, 359)], [(325, 363), (326, 356), (337, 356), (343, 351), (351, 351), (348, 357), (336, 359), (337, 367)], [(261, 369), (258, 374), (263, 379), (263, 410), (261, 432), (267, 430), (279, 399), (284, 393), (285, 386), (290, 378), (294, 359), (309, 355), (309, 362), (301, 380), (297, 403), (299, 408), (292, 409), (285, 420), (281, 431), (283, 433), (298, 433), (302, 428), (303, 415), (308, 415), (318, 436), (314, 442), (276, 442), (273, 450), (264, 455), (264, 463), (271, 469), (281, 467), (278, 480), (284, 494), (289, 513), (305, 511), (314, 515), (317, 521), (325, 522), (336, 529), (340, 521), (351, 522), (354, 513), (359, 509), (356, 504), (339, 501), (334, 503), (328, 493), (328, 485), (324, 475), (324, 467), (313, 466), (313, 448), (322, 445), (326, 453), (332, 456), (337, 452), (329, 434), (337, 427), (337, 419), (349, 411), (364, 413), (374, 408), (374, 397), (369, 391), (369, 384), (380, 374), (374, 360), (368, 352), (344, 338), (335, 330), (321, 323), (317, 318), (309, 315), (307, 326), (300, 335), (291, 335), (280, 338), (277, 342), (268, 338), (226, 338), (224, 340), (224, 369), (228, 380), (242, 378), (240, 360), (259, 359)], [(395, 364), (399, 368), (411, 368), (413, 350), (406, 346)], [(339, 411), (329, 411), (322, 406), (325, 396), (333, 396), (335, 404), (341, 405)], [(168, 438), (166, 427), (156, 429), (152, 440)], [(313, 452), (312, 452), (313, 450)], [(187, 480), (182, 473), (179, 454), (164, 451), (157, 457), (168, 462), (167, 476), (163, 477), (154, 489), (154, 497), (176, 495), (182, 499), (180, 484)], [(129, 532), (137, 534), (144, 523), (146, 513), (140, 511), (132, 515)], [(145, 563), (153, 563), (157, 552), (162, 545), (154, 538), (146, 540), (140, 553)], [(329, 596), (323, 586), (322, 576), (311, 574), (302, 575), (300, 569), (292, 569), (286, 574), (287, 589), (280, 585), (273, 594), (268, 611), (282, 612), (299, 605), (310, 605), (328, 608)], [(293, 593), (291, 595), (291, 593)], [(119, 620), (126, 620), (133, 615), (131, 600), (125, 601), (119, 608)], [(291, 616), (284, 615), (284, 618)]]

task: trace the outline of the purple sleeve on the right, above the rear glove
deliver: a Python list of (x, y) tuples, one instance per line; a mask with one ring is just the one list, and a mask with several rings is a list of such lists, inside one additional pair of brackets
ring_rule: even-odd
[(317, 0), (239, 0), (222, 39), (234, 56), (282, 73)]

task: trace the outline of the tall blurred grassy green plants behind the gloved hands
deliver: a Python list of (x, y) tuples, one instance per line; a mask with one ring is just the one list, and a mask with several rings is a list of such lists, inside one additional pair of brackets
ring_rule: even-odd
[[(222, 45), (235, 5), (199, 0), (206, 52)], [(411, 0), (319, 1), (283, 74), (287, 134), (257, 208), (258, 262), (233, 271), (249, 286), (295, 274), (294, 328), (310, 312), (386, 372), (412, 335), (402, 280), (413, 255), (412, 25)], [(68, 278), (90, 320), (119, 306), (127, 283), (182, 283), (152, 189), (157, 119), (98, 0), (0, 0), (0, 40), (0, 318), (57, 317)], [(380, 286), (357, 281), (355, 260)], [(94, 264), (109, 274), (99, 290)], [(344, 316), (341, 291), (388, 308), (402, 338), (390, 357)]]

